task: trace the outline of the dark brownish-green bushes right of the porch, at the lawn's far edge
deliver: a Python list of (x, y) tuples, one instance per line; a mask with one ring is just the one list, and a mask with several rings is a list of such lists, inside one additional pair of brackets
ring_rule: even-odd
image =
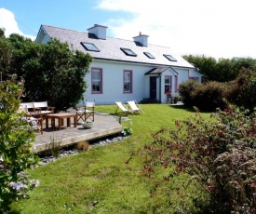
[(256, 106), (256, 70), (242, 69), (236, 80), (228, 83), (207, 82), (197, 84), (183, 82), (179, 87), (183, 103), (196, 106), (200, 111), (214, 112), (225, 107), (224, 100), (253, 111)]

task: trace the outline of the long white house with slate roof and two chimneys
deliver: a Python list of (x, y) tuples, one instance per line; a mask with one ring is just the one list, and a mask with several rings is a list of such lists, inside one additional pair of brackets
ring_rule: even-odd
[(107, 27), (95, 24), (88, 33), (41, 25), (37, 43), (51, 38), (67, 42), (70, 48), (88, 53), (93, 62), (86, 75), (85, 100), (97, 104), (115, 101), (155, 100), (167, 103), (167, 93), (179, 95), (179, 85), (188, 79), (201, 83), (202, 74), (168, 47), (148, 44), (148, 35), (133, 40), (106, 36)]

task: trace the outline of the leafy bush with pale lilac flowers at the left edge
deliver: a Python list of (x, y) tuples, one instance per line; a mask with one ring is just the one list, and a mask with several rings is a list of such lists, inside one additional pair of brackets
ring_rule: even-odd
[(37, 185), (25, 173), (37, 159), (31, 151), (32, 127), (17, 113), (22, 91), (22, 83), (16, 83), (15, 76), (0, 84), (0, 213)]

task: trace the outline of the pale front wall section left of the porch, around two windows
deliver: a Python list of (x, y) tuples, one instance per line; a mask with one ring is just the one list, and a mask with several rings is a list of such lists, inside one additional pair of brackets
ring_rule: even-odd
[[(86, 74), (88, 90), (84, 94), (84, 101), (95, 100), (96, 104), (115, 104), (115, 101), (137, 100), (149, 97), (149, 77), (144, 75), (152, 67), (139, 64), (128, 64), (123, 62), (95, 60), (90, 64), (90, 72)], [(91, 93), (91, 68), (102, 69), (102, 93)], [(132, 92), (123, 91), (124, 70), (132, 71)], [(81, 101), (83, 102), (83, 101)]]

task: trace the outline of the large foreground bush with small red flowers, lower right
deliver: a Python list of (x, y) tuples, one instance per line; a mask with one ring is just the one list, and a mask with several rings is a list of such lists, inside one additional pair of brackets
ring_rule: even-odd
[[(138, 153), (144, 157), (142, 172), (149, 178), (157, 177), (154, 172), (159, 167), (167, 171), (163, 179), (169, 188), (161, 188), (159, 181), (155, 191), (160, 189), (162, 197), (176, 193), (183, 198), (177, 213), (255, 213), (256, 114), (228, 105), (210, 119), (196, 112), (175, 124), (175, 129), (153, 134), (152, 143)], [(181, 181), (174, 179), (182, 174), (190, 177), (183, 191), (176, 183)], [(188, 194), (193, 190), (189, 184), (196, 194)]]

